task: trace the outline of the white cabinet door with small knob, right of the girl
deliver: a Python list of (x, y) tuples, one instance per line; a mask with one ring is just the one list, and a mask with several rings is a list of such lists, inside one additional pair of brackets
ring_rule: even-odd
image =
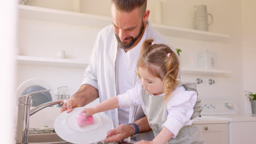
[(228, 124), (195, 124), (200, 140), (206, 144), (228, 144)]

